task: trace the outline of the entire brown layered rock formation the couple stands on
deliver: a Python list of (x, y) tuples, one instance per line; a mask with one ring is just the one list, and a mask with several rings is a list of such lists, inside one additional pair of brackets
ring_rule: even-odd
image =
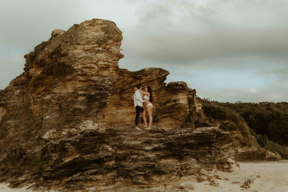
[[(0, 91), (1, 181), (43, 191), (165, 191), (193, 179), (213, 184), (213, 171), (237, 168), (237, 142), (211, 127), (195, 90), (166, 85), (164, 69), (119, 68), (121, 33), (114, 22), (88, 20), (54, 30), (24, 56), (25, 72)], [(139, 82), (154, 91), (151, 131), (132, 126)]]

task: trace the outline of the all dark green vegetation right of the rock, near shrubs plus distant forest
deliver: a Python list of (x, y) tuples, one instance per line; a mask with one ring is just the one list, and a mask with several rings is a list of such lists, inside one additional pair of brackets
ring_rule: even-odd
[(246, 123), (261, 147), (288, 159), (282, 146), (288, 144), (288, 102), (219, 103), (204, 98), (202, 109), (208, 117), (229, 120), (219, 125), (224, 131), (240, 130), (243, 136), (248, 136)]

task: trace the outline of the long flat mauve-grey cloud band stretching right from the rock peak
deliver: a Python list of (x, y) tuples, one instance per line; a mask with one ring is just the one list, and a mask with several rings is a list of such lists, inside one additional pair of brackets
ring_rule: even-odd
[[(276, 33), (279, 35), (273, 37)], [(165, 33), (133, 40), (126, 49), (130, 54), (162, 62), (187, 61), (235, 53), (288, 53), (287, 34), (288, 30)]]

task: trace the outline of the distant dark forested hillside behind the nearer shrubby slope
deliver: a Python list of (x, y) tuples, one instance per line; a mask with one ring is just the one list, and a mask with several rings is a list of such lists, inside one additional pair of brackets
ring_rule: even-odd
[(256, 134), (288, 145), (288, 102), (219, 103), (219, 106), (238, 113)]

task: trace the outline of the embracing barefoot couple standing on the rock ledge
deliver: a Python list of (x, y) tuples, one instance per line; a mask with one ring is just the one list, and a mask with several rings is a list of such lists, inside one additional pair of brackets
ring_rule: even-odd
[[(152, 125), (152, 89), (151, 87), (147, 86), (145, 88), (145, 91), (142, 91), (142, 84), (138, 83), (136, 87), (134, 88), (134, 106), (136, 108), (136, 118), (135, 118), (135, 129), (141, 130), (138, 127), (138, 119), (140, 116), (140, 112), (142, 112), (142, 118), (141, 118), (141, 126), (145, 129), (151, 129)], [(147, 126), (147, 119), (146, 114), (148, 114), (149, 117), (149, 126)], [(144, 121), (144, 125), (142, 124)]]

